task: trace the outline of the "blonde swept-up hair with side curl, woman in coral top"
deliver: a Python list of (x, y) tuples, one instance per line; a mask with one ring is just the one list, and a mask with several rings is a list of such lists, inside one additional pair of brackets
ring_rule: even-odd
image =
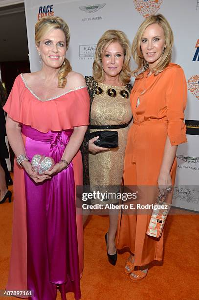
[[(66, 22), (60, 17), (44, 17), (35, 25), (35, 43), (39, 47), (43, 36), (52, 29), (61, 29), (66, 38), (66, 50), (70, 41), (70, 29)], [(72, 70), (69, 61), (66, 59), (58, 73), (58, 87), (64, 88), (66, 85), (66, 76)]]

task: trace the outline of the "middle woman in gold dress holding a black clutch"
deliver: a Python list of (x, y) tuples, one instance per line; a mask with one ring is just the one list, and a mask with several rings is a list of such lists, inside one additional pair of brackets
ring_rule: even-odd
[[(84, 184), (90, 185), (93, 191), (96, 186), (100, 191), (103, 188), (109, 190), (109, 186), (117, 186), (115, 191), (119, 192), (118, 186), (121, 185), (128, 125), (132, 119), (130, 58), (130, 45), (124, 32), (107, 30), (96, 47), (93, 77), (85, 77), (90, 95), (90, 126), (82, 147)], [(98, 130), (117, 130), (118, 147), (108, 149), (96, 146), (94, 142), (99, 137), (89, 138), (89, 134)], [(110, 203), (110, 201), (99, 202)], [(111, 203), (116, 202), (117, 199), (111, 200)], [(109, 231), (105, 235), (107, 255), (109, 262), (115, 265), (117, 212), (110, 209), (109, 220)]]

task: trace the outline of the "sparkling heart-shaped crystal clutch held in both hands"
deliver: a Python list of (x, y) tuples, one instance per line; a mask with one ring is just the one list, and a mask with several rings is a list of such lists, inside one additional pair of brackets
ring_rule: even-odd
[(52, 157), (44, 156), (41, 154), (35, 154), (31, 161), (33, 170), (38, 175), (43, 175), (45, 171), (50, 171), (55, 165)]

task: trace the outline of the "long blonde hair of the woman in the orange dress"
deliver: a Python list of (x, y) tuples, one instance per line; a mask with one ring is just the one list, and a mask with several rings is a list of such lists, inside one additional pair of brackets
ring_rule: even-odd
[(153, 68), (151, 71), (158, 75), (160, 72), (162, 72), (166, 66), (171, 62), (172, 57), (172, 48), (174, 43), (174, 34), (171, 29), (171, 26), (169, 25), (169, 22), (165, 19), (165, 17), (161, 14), (158, 15), (151, 15), (145, 19), (145, 21), (139, 26), (137, 33), (135, 34), (133, 44), (132, 44), (132, 54), (133, 58), (137, 64), (137, 68), (133, 70), (133, 76), (141, 78), (143, 74), (139, 74), (140, 72), (144, 70), (149, 69), (148, 62), (144, 59), (142, 50), (141, 50), (141, 41), (143, 34), (145, 32), (145, 29), (152, 24), (158, 24), (162, 27), (164, 30), (164, 37), (165, 37), (165, 44), (166, 48), (164, 48), (164, 51), (162, 52), (162, 55), (159, 59), (159, 62)]

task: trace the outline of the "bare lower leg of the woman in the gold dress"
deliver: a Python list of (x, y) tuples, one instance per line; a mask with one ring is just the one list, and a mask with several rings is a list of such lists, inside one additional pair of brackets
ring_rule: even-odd
[(109, 210), (109, 234), (108, 234), (108, 249), (109, 254), (115, 254), (115, 234), (117, 232), (118, 213), (116, 210)]

